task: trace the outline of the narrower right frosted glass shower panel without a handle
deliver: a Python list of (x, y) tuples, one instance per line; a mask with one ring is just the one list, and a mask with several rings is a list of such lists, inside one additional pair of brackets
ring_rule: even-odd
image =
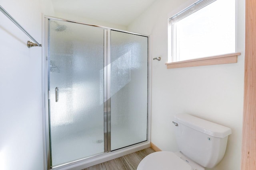
[(111, 31), (111, 150), (147, 140), (148, 37)]

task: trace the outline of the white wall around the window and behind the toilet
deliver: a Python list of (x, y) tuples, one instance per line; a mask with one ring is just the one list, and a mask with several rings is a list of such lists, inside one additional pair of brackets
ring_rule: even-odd
[(166, 69), (167, 18), (196, 0), (158, 0), (128, 25), (128, 31), (152, 37), (151, 141), (162, 150), (177, 151), (173, 115), (189, 113), (230, 127), (226, 154), (213, 170), (239, 170), (244, 90), (244, 4), (238, 0), (238, 63)]

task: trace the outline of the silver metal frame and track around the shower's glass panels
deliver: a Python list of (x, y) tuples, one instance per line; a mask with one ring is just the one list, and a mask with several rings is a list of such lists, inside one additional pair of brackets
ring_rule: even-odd
[[(50, 137), (49, 137), (49, 106), (48, 106), (48, 100), (50, 99), (50, 95), (48, 89), (49, 89), (49, 68), (50, 66), (48, 65), (48, 20), (57, 20), (57, 21), (67, 21), (67, 22), (71, 22), (71, 23), (79, 23), (79, 24), (83, 24), (83, 25), (89, 25), (89, 26), (94, 26), (94, 27), (100, 27), (100, 28), (104, 28), (104, 152), (93, 155), (93, 156), (89, 156), (86, 158), (81, 158), (79, 160), (75, 160), (75, 161), (71, 161), (71, 162), (67, 162), (58, 166), (51, 166), (50, 165)], [(148, 120), (147, 120), (147, 141), (138, 143), (138, 144), (134, 144), (128, 147), (124, 147), (121, 149), (117, 149), (114, 151), (111, 151), (111, 131), (110, 131), (110, 126), (111, 126), (111, 122), (110, 122), (110, 118), (111, 118), (111, 110), (110, 110), (110, 106), (111, 106), (111, 96), (110, 96), (110, 31), (114, 30), (114, 31), (120, 31), (120, 32), (124, 32), (124, 33), (130, 33), (130, 34), (134, 34), (134, 35), (141, 35), (144, 37), (148, 37)], [(138, 34), (138, 33), (132, 33), (129, 31), (124, 31), (121, 29), (112, 29), (109, 27), (103, 27), (103, 26), (98, 26), (98, 25), (91, 25), (91, 24), (86, 24), (86, 23), (82, 23), (82, 22), (77, 22), (77, 21), (73, 21), (73, 20), (65, 20), (62, 18), (56, 18), (56, 17), (51, 17), (51, 16), (44, 16), (44, 50), (43, 50), (43, 68), (44, 71), (42, 71), (42, 77), (43, 77), (43, 81), (44, 83), (42, 83), (42, 94), (43, 94), (43, 106), (45, 106), (43, 108), (43, 132), (44, 132), (44, 169), (49, 170), (49, 169), (54, 169), (54, 170), (66, 170), (69, 169), (71, 167), (79, 167), (81, 166), (81, 168), (86, 168), (89, 166), (92, 166), (94, 164), (98, 164), (101, 162), (105, 162), (107, 160), (111, 160), (113, 158), (118, 158), (120, 156), (124, 156), (125, 154), (129, 154), (132, 152), (136, 152), (138, 150), (141, 149), (145, 149), (147, 147), (150, 147), (150, 134), (149, 134), (149, 130), (150, 130), (150, 88), (151, 88), (151, 84), (150, 84), (150, 76), (151, 76), (151, 70), (150, 70), (150, 60), (149, 60), (149, 56), (150, 56), (150, 36), (149, 35), (144, 35), (144, 34)], [(102, 157), (102, 159), (100, 158)], [(107, 158), (106, 158), (107, 157)], [(104, 160), (104, 161), (102, 161)], [(95, 163), (94, 163), (95, 162)], [(85, 167), (86, 165), (86, 167)]]

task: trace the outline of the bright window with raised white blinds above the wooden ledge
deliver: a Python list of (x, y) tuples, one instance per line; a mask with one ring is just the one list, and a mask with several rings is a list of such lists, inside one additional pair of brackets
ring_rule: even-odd
[(169, 19), (168, 62), (236, 51), (236, 0), (199, 0)]

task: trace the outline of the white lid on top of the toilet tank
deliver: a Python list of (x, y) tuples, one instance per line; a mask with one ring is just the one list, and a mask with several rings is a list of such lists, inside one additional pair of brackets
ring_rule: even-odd
[(213, 137), (224, 138), (231, 134), (231, 129), (217, 123), (213, 123), (188, 114), (178, 114), (174, 116), (175, 121), (192, 129), (206, 133)]

